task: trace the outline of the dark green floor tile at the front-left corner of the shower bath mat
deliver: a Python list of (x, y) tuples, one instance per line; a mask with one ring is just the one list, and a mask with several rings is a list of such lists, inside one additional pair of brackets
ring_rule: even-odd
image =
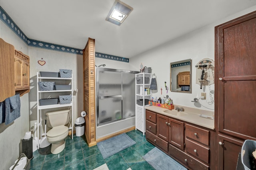
[(85, 158), (84, 160), (87, 170), (93, 170), (106, 163), (100, 153), (94, 154), (88, 158)]

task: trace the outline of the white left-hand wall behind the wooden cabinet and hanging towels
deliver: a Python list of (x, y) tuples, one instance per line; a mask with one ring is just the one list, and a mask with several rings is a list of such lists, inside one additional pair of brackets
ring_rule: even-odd
[[(14, 48), (18, 51), (28, 55), (26, 43), (18, 38), (2, 21), (0, 21), (0, 38), (14, 45)], [(20, 97), (20, 117), (14, 120), (14, 123), (9, 125), (5, 125), (5, 123), (0, 124), (0, 169), (9, 169), (21, 153), (21, 139), (30, 130), (28, 100), (28, 93)]]

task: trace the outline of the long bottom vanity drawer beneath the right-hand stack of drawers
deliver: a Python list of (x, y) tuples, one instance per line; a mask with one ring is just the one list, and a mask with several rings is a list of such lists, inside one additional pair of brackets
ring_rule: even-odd
[(192, 170), (208, 170), (209, 167), (169, 144), (169, 154)]

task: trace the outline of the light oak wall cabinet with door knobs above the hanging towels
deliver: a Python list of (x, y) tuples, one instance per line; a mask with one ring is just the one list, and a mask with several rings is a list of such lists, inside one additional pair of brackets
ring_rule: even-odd
[(20, 96), (30, 91), (29, 57), (20, 51), (14, 51), (14, 79), (15, 91), (19, 91)]

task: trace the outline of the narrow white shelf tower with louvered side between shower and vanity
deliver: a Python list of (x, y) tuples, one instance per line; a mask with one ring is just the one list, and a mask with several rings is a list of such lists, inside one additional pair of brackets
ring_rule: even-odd
[[(149, 106), (148, 102), (146, 102), (146, 99), (150, 100), (152, 97), (152, 91), (149, 90), (151, 78), (151, 73), (135, 74), (135, 130), (140, 130), (143, 133), (143, 135), (146, 132), (145, 107)], [(145, 94), (144, 89), (148, 89), (150, 91), (150, 94)], [(138, 105), (138, 102), (140, 103), (140, 105)]]

